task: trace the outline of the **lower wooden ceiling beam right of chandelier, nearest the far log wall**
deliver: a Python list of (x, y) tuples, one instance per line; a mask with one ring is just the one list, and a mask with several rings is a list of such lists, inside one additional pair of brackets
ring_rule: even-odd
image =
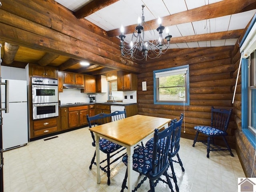
[(241, 36), (244, 32), (244, 29), (208, 33), (208, 34), (199, 34), (199, 35), (190, 35), (184, 37), (173, 37), (170, 40), (170, 43), (187, 43), (187, 42), (197, 42), (197, 41), (211, 41), (211, 40), (222, 40), (222, 39), (236, 39)]

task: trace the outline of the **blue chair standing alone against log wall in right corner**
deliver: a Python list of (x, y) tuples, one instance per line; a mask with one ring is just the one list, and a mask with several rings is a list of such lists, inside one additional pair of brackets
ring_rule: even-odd
[[(195, 146), (196, 142), (202, 142), (206, 144), (206, 141), (198, 141), (197, 137), (198, 134), (204, 134), (207, 136), (207, 158), (209, 158), (210, 151), (217, 151), (217, 150), (228, 150), (230, 152), (230, 155), (234, 157), (230, 146), (228, 145), (228, 142), (226, 140), (227, 129), (228, 124), (230, 121), (230, 117), (232, 114), (232, 109), (226, 110), (226, 109), (216, 109), (212, 106), (211, 110), (211, 124), (210, 126), (195, 126), (194, 129), (196, 130), (196, 136), (194, 138), (193, 147)], [(214, 138), (221, 136), (226, 144), (226, 148), (221, 148), (220, 146), (217, 146), (214, 144)]]

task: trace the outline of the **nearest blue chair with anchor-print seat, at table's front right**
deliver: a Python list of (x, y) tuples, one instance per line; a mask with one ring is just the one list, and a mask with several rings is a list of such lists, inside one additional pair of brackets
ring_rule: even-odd
[[(138, 190), (141, 184), (148, 178), (151, 192), (155, 191), (154, 187), (159, 181), (168, 184), (170, 190), (174, 192), (174, 190), (172, 189), (172, 183), (167, 173), (169, 167), (168, 153), (170, 148), (171, 135), (173, 131), (174, 123), (171, 123), (171, 125), (166, 129), (155, 129), (153, 148), (139, 146), (138, 148), (134, 149), (134, 154), (132, 156), (133, 170), (140, 173), (140, 175), (144, 175), (144, 178), (134, 188), (133, 191)], [(127, 166), (128, 156), (125, 155), (122, 161)], [(160, 178), (162, 175), (166, 177), (166, 180)], [(127, 188), (127, 177), (128, 170), (126, 169), (121, 192), (124, 191), (124, 188)]]

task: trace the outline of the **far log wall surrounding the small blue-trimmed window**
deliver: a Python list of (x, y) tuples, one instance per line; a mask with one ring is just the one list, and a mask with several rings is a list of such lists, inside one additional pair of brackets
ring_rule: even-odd
[[(210, 125), (211, 106), (234, 109), (232, 97), (236, 79), (233, 74), (236, 68), (232, 64), (233, 50), (234, 46), (172, 49), (168, 54), (161, 56), (161, 60), (145, 61), (143, 64), (144, 72), (137, 75), (138, 113), (165, 118), (179, 118), (180, 113), (184, 113), (186, 133), (182, 131), (182, 137), (194, 139), (194, 126)], [(186, 64), (189, 64), (190, 70), (190, 105), (154, 104), (153, 71)], [(146, 91), (142, 91), (142, 81), (147, 82)], [(236, 146), (234, 120), (233, 113), (227, 136), (232, 149)], [(215, 141), (222, 146), (224, 145), (222, 138)]]

